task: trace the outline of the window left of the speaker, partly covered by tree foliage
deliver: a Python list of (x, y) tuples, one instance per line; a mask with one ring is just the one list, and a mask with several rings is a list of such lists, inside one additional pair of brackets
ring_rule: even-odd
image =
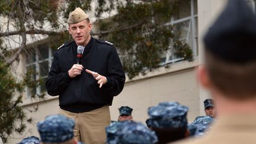
[(40, 79), (39, 87), (26, 88), (27, 98), (31, 95), (40, 95), (46, 91), (45, 82), (47, 80), (48, 72), (53, 60), (54, 50), (47, 45), (33, 47), (30, 50), (30, 56), (26, 59), (26, 70), (34, 71), (32, 78)]

